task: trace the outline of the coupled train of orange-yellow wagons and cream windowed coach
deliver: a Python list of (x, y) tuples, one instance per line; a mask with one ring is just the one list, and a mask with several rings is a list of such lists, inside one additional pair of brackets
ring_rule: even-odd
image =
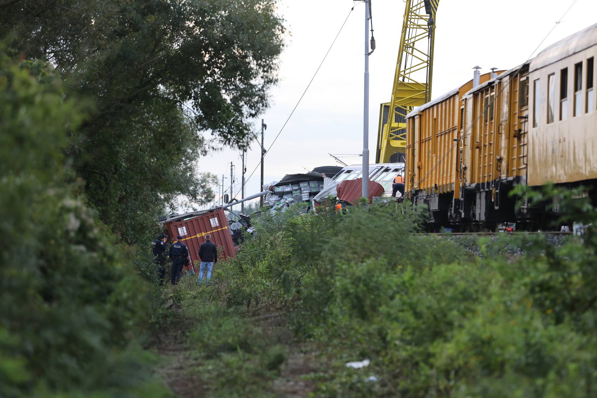
[(475, 71), (407, 115), (407, 196), (429, 207), (430, 230), (547, 228), (545, 204), (516, 208), (516, 185), (583, 184), (595, 195), (596, 58), (594, 24), (511, 70)]

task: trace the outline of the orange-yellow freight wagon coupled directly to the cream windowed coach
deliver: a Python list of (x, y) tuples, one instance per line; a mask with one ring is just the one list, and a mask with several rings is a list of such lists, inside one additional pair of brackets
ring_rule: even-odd
[(507, 190), (500, 188), (524, 184), (527, 71), (528, 64), (498, 72), (463, 96), (461, 192), (453, 213), (467, 229), (472, 229), (470, 224), (493, 229), (493, 219), (513, 214), (513, 206), (500, 207), (507, 200)]

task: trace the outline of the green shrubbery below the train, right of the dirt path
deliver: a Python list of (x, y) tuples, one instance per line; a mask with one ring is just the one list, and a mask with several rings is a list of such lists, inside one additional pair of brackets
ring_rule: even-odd
[(319, 341), (333, 371), (312, 375), (316, 396), (597, 394), (592, 231), (559, 246), (505, 234), (463, 244), (414, 234), (417, 213), (396, 205), (298, 213), (261, 216), (215, 275), (231, 306), (286, 306), (294, 331)]

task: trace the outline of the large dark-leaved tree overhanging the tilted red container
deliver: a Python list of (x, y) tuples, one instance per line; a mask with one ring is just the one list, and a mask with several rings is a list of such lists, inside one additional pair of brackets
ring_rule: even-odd
[(213, 198), (197, 172), (211, 131), (244, 145), (267, 106), (284, 27), (274, 0), (2, 0), (0, 37), (47, 60), (96, 110), (67, 155), (104, 222), (146, 240), (162, 205)]

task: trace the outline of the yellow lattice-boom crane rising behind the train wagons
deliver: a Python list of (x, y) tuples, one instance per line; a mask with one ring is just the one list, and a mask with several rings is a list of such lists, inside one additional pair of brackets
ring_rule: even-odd
[(406, 0), (392, 99), (380, 105), (376, 163), (400, 161), (394, 155), (405, 153), (405, 116), (431, 100), (438, 3), (439, 0)]

